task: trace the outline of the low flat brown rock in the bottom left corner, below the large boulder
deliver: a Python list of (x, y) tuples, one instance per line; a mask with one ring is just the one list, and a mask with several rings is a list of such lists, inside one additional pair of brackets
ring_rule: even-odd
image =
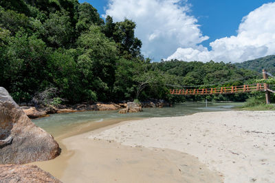
[(59, 183), (61, 181), (35, 165), (6, 164), (0, 165), (0, 182)]

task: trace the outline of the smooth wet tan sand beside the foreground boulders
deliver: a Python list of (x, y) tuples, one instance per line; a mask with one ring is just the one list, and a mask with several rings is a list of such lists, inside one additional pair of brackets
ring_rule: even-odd
[(113, 123), (97, 124), (91, 132), (83, 126), (78, 135), (56, 138), (61, 156), (32, 164), (63, 182), (223, 182), (221, 173), (184, 152), (89, 138), (129, 121)]

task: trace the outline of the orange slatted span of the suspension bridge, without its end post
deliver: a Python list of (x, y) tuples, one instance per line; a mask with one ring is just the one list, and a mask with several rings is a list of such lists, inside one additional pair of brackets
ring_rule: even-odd
[(246, 84), (243, 86), (225, 86), (219, 88), (201, 89), (170, 89), (171, 95), (219, 95), (231, 93), (248, 93), (256, 90), (265, 90), (264, 84)]

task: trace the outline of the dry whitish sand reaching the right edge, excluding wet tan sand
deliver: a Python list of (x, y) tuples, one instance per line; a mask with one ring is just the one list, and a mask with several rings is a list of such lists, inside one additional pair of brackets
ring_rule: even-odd
[(275, 112), (144, 119), (91, 132), (90, 138), (181, 151), (221, 172), (225, 182), (275, 182)]

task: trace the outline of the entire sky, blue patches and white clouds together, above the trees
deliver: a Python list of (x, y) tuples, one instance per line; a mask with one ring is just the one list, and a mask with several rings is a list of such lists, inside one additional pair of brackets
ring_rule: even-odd
[[(112, 0), (109, 6), (109, 0), (80, 0), (79, 2), (91, 3), (98, 9), (100, 15), (110, 14), (115, 21), (122, 21), (124, 17), (135, 21), (136, 36), (143, 42), (142, 53), (155, 61), (162, 58), (177, 58), (186, 61), (199, 59), (206, 62), (214, 59), (217, 62), (221, 60), (242, 62), (275, 53), (273, 45), (262, 44), (259, 39), (257, 39), (259, 44), (255, 42), (243, 44), (244, 40), (250, 41), (248, 37), (240, 34), (241, 32), (245, 35), (250, 35), (252, 32), (257, 34), (250, 35), (250, 39), (272, 34), (273, 29), (263, 30), (263, 32), (258, 32), (258, 29), (261, 29), (265, 23), (268, 23), (265, 27), (273, 25), (274, 21), (270, 19), (274, 18), (270, 18), (269, 15), (272, 11), (275, 12), (274, 1), (188, 0), (187, 4), (184, 3), (186, 0), (175, 1), (173, 3), (170, 0)], [(265, 3), (269, 4), (264, 5)], [(156, 14), (162, 15), (157, 19), (153, 18)], [(245, 16), (248, 16), (248, 20), (242, 23)], [(259, 19), (262, 21), (258, 23), (258, 27), (253, 27), (253, 21)], [(188, 26), (184, 26), (186, 23)], [(240, 25), (243, 28), (239, 29)], [(173, 33), (168, 34), (168, 32)], [(230, 45), (232, 40), (241, 42), (242, 44), (239, 45), (242, 46), (235, 47), (231, 52), (220, 51), (219, 45), (232, 48)], [(219, 50), (219, 53), (215, 50)], [(238, 50), (241, 52), (236, 53)]]

